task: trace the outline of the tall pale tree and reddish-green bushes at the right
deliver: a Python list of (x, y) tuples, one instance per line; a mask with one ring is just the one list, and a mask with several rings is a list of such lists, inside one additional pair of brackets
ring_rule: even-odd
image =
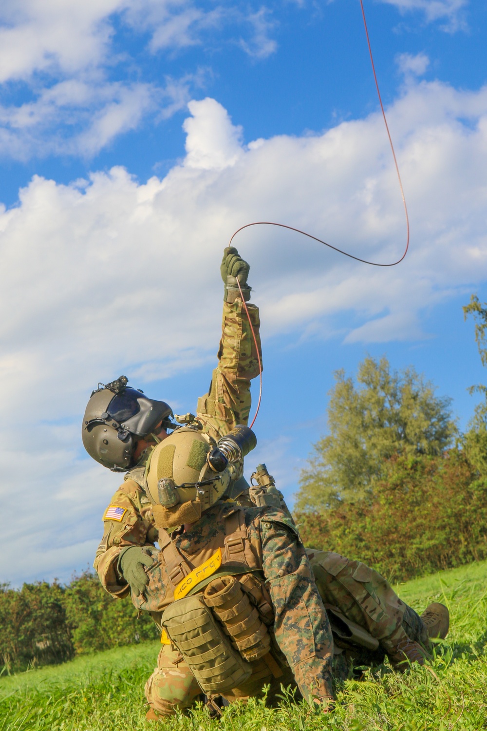
[[(487, 366), (487, 303), (472, 295), (464, 315)], [(460, 433), (413, 368), (367, 357), (355, 379), (337, 371), (296, 495), (304, 542), (395, 581), (487, 558), (487, 387), (469, 391), (482, 399)]]

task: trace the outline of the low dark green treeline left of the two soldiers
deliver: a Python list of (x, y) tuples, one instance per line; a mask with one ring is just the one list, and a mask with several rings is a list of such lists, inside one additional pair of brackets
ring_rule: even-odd
[(68, 586), (0, 585), (0, 675), (156, 637), (150, 616), (137, 618), (130, 599), (112, 599), (91, 572)]

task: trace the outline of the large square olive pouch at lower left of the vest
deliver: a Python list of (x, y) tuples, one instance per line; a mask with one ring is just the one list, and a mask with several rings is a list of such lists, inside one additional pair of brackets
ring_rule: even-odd
[(231, 646), (202, 594), (169, 605), (161, 625), (207, 695), (229, 691), (250, 678), (252, 667)]

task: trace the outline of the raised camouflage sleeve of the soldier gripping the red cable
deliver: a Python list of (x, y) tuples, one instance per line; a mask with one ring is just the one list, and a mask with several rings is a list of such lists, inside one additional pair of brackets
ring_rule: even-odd
[[(258, 307), (250, 303), (247, 307), (262, 360)], [(237, 298), (234, 303), (223, 303), (218, 367), (213, 371), (208, 393), (198, 400), (197, 416), (204, 432), (218, 439), (237, 424), (247, 424), (251, 401), (250, 380), (256, 376), (256, 344), (242, 300)]]

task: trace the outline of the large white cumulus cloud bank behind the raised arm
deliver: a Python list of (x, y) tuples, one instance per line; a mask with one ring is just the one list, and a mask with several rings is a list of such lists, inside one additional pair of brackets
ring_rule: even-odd
[[(120, 167), (71, 185), (35, 177), (0, 211), (4, 578), (66, 577), (73, 556), (91, 561), (117, 477), (83, 457), (86, 398), (120, 373), (144, 387), (210, 368), (221, 251), (237, 227), (279, 221), (380, 262), (404, 247), (380, 115), (245, 146), (214, 99), (189, 108), (187, 156), (164, 178), (140, 184)], [(485, 278), (487, 88), (412, 83), (388, 119), (410, 254), (392, 270), (365, 268), (292, 232), (242, 232), (234, 243), (253, 266), (264, 352), (269, 336), (323, 333), (331, 321), (348, 342), (424, 337), (423, 308)], [(16, 562), (26, 536), (35, 566)]]

